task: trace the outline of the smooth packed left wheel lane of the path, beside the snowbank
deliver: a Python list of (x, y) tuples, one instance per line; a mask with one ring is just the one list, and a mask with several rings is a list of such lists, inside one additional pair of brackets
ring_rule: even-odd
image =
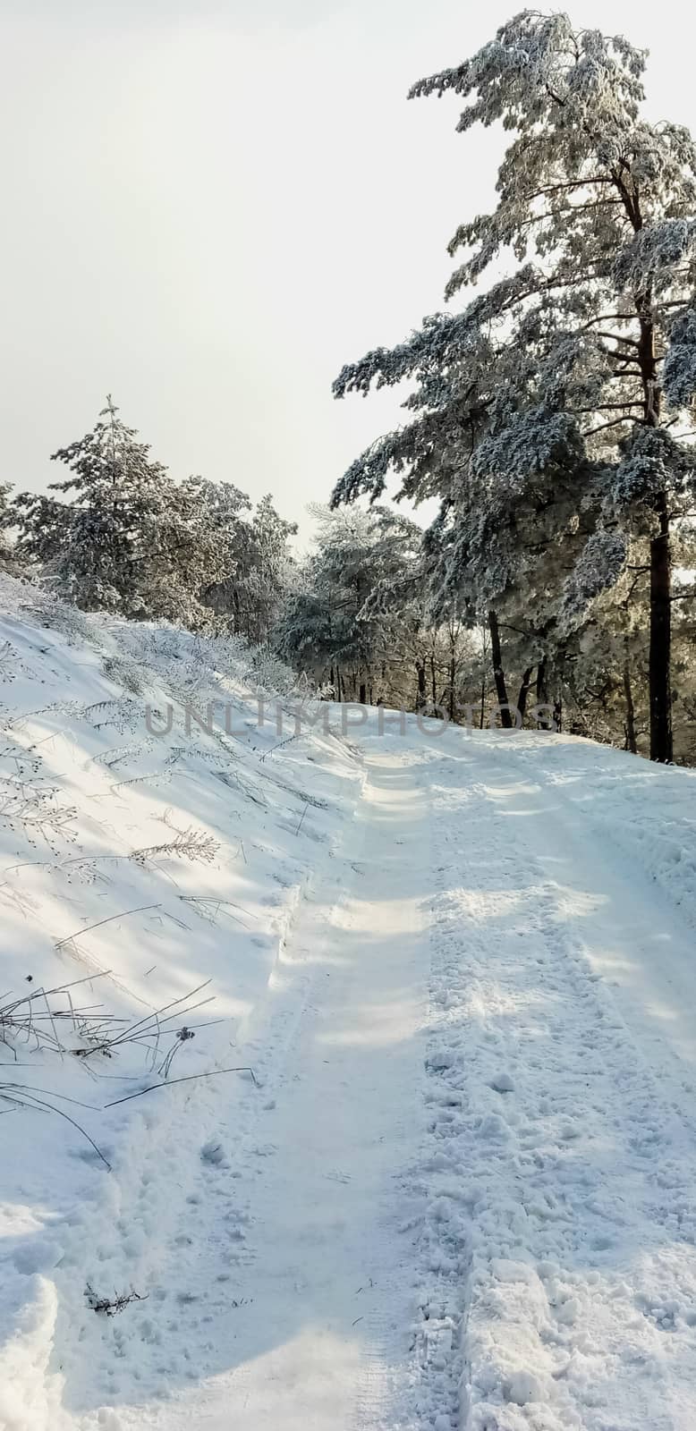
[[(159, 1268), (178, 1307), (178, 1355), (162, 1365), (158, 1338), (137, 1375), (146, 1397), (166, 1382), (173, 1398), (146, 1414), (123, 1368), (109, 1398), (119, 1425), (394, 1424), (412, 1319), (398, 1229), (412, 1212), (404, 1169), (422, 1120), (427, 813), (410, 760), (371, 761), (335, 880), (312, 889), (248, 1030), (243, 1056), (262, 1089), (246, 1085), (233, 1102), (221, 1161), (199, 1163)], [(182, 1390), (186, 1374), (195, 1390)], [(74, 1410), (90, 1397), (87, 1385)]]

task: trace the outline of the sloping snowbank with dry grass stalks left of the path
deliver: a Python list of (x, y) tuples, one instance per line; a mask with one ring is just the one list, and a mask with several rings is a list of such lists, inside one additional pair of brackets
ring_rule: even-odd
[[(126, 1318), (96, 1317), (87, 1285), (150, 1284), (182, 1148), (215, 1146), (218, 1099), (249, 1075), (116, 1100), (168, 1055), (172, 1079), (239, 1063), (362, 776), (339, 734), (278, 731), (275, 694), (311, 713), (306, 691), (241, 641), (87, 618), (10, 578), (0, 600), (0, 1003), (34, 996), (0, 1069), (23, 1103), (3, 1102), (0, 1424), (56, 1431), (80, 1377), (56, 1362), (56, 1318), (83, 1359), (112, 1334), (126, 1354)], [(109, 1047), (136, 1020), (140, 1042)]]

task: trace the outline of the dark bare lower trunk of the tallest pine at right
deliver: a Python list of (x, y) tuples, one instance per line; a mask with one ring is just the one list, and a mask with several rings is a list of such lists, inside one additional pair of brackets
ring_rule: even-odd
[(657, 498), (660, 534), (650, 542), (650, 760), (669, 764), (672, 741), (672, 561), (667, 498)]

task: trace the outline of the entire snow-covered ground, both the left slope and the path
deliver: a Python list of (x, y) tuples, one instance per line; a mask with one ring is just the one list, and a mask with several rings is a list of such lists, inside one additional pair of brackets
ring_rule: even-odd
[(692, 1428), (695, 776), (3, 610), (0, 1425)]

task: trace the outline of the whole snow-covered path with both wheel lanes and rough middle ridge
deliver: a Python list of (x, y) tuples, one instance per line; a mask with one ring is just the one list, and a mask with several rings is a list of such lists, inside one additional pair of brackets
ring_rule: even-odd
[(357, 740), (262, 1088), (183, 1168), (150, 1125), (149, 1301), (89, 1357), (59, 1322), (70, 1424), (692, 1431), (693, 936), (543, 741)]

